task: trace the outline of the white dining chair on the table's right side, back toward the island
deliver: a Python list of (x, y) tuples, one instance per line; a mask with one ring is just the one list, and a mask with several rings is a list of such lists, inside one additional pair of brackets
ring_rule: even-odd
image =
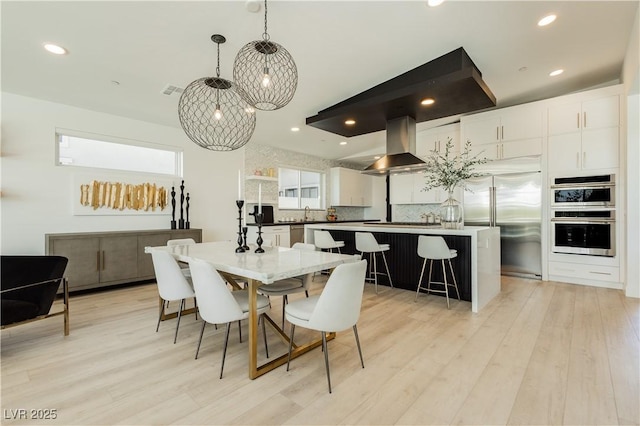
[(343, 331), (352, 327), (358, 346), (360, 363), (364, 368), (356, 323), (362, 307), (366, 271), (366, 260), (338, 265), (329, 276), (329, 280), (319, 296), (293, 301), (285, 309), (287, 321), (291, 323), (287, 371), (289, 371), (291, 362), (293, 335), (296, 326), (320, 331), (329, 393), (331, 393), (331, 374), (329, 372), (329, 348), (327, 347), (328, 332)]

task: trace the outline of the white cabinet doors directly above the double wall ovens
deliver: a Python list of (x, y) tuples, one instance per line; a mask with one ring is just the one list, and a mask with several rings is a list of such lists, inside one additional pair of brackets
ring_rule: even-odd
[(617, 168), (620, 163), (618, 95), (549, 106), (549, 170)]

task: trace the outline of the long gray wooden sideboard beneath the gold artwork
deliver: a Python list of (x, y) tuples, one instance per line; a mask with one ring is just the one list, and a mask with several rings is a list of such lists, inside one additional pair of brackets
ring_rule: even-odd
[(155, 278), (146, 246), (193, 238), (202, 242), (201, 229), (45, 234), (45, 253), (69, 259), (65, 277), (69, 291), (87, 290)]

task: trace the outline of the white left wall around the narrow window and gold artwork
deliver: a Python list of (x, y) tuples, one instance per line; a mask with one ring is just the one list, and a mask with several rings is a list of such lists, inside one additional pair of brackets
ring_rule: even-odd
[(73, 215), (74, 175), (88, 170), (55, 165), (56, 128), (183, 149), (191, 228), (203, 229), (205, 241), (235, 239), (233, 200), (244, 149), (212, 152), (192, 143), (182, 129), (2, 93), (2, 254), (43, 254), (46, 233), (169, 228), (170, 207), (168, 215)]

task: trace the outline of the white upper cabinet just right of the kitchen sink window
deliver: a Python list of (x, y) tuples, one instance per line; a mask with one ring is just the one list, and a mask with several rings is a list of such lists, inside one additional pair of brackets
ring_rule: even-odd
[(332, 206), (367, 207), (373, 203), (374, 177), (343, 167), (329, 169)]

